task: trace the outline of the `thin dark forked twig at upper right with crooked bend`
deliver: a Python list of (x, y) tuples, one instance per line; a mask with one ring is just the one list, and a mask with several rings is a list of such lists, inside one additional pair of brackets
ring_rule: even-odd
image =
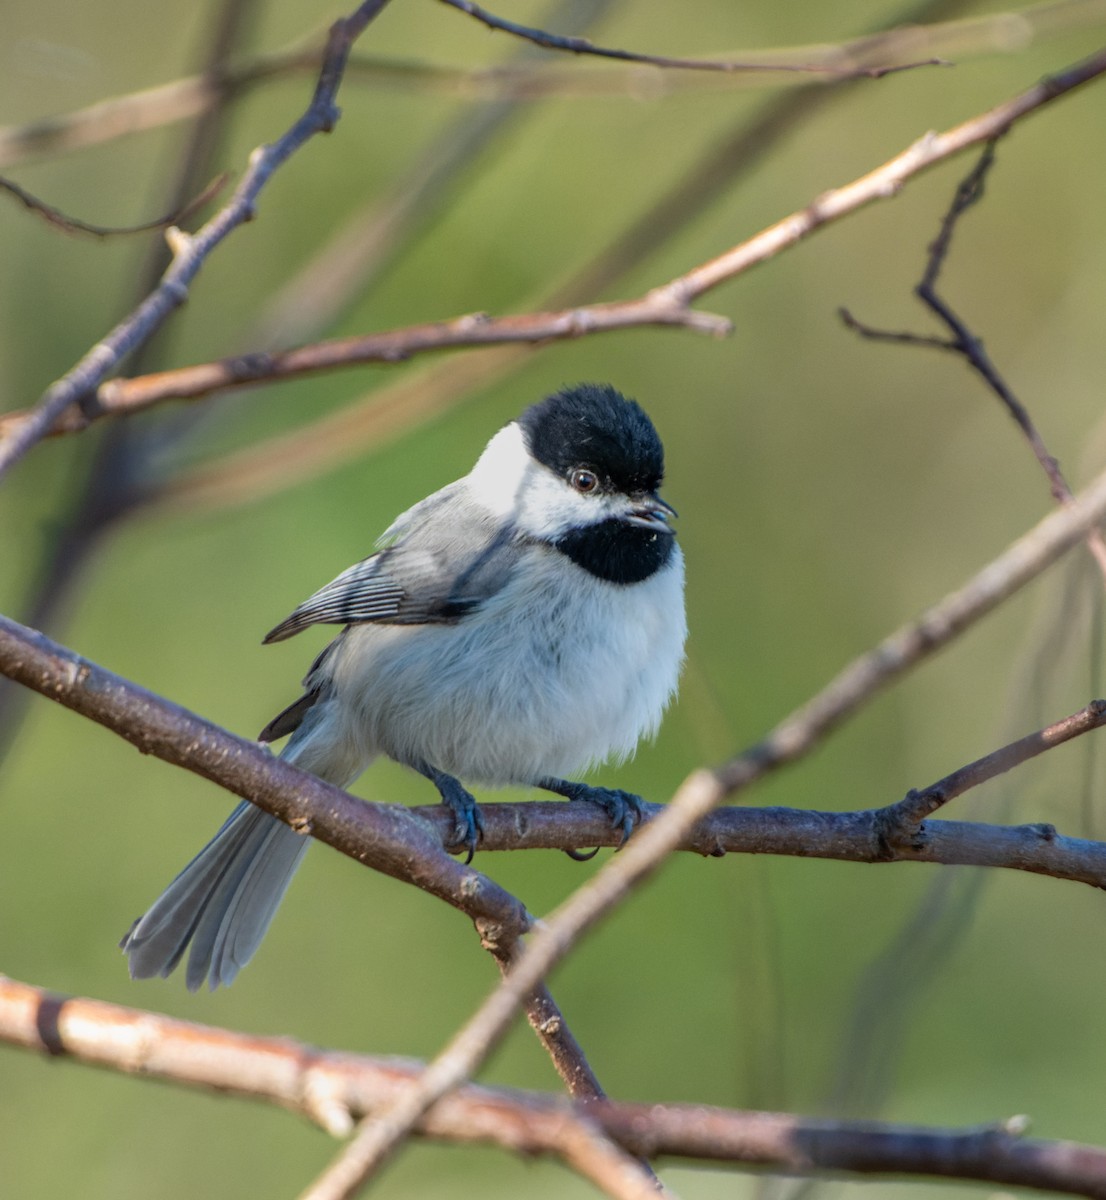
[[(948, 260), (956, 227), (963, 215), (978, 204), (984, 194), (984, 184), (994, 164), (994, 146), (996, 139), (991, 139), (985, 144), (979, 161), (957, 185), (952, 203), (942, 218), (937, 238), (930, 245), (921, 281), (914, 288), (918, 299), (946, 326), (950, 336), (932, 337), (924, 334), (892, 332), (873, 329), (871, 325), (859, 322), (846, 308), (840, 310), (841, 317), (849, 329), (872, 341), (926, 346), (961, 355), (968, 366), (998, 396), (1005, 406), (1006, 412), (1024, 434), (1026, 440), (1029, 443), (1029, 449), (1048, 479), (1052, 498), (1057, 504), (1069, 504), (1072, 494), (1071, 488), (1068, 486), (1068, 480), (1064, 479), (1059, 462), (1057, 462), (1045, 445), (1045, 439), (1029, 415), (1029, 410), (1006, 384), (991, 355), (984, 348), (982, 341), (972, 332), (963, 318), (958, 317), (951, 305), (937, 292), (937, 283)], [(1090, 529), (1087, 534), (1087, 545), (1098, 563), (1102, 577), (1106, 578), (1106, 540), (1104, 540), (1098, 529)]]

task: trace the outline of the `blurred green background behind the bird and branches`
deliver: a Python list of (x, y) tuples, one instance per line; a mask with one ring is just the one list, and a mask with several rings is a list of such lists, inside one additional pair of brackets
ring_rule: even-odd
[[(5, 0), (0, 120), (65, 113), (187, 73), (217, 11), (209, 2)], [(501, 11), (529, 22), (551, 12), (536, 4)], [(738, 55), (840, 41), (892, 11), (885, 0), (639, 0), (611, 4), (588, 32), (668, 54)], [(339, 12), (258, 2), (238, 56), (283, 47)], [(657, 239), (606, 294), (662, 282), (926, 130), (1087, 54), (1106, 18), (1099, 13), (1095, 25), (1093, 8), (1078, 12), (1081, 28), (1011, 38), (1003, 53), (966, 48), (951, 55), (955, 67), (840, 90), (675, 236)], [(518, 46), (429, 0), (397, 0), (359, 52), (468, 70), (511, 60)], [(594, 70), (576, 59), (554, 66), (570, 79)], [(719, 79), (668, 89), (655, 74), (633, 78), (621, 92), (572, 95), (570, 86), (521, 103), (324, 331), (525, 310), (696, 163), (716, 160), (731, 131), (777, 95)], [(240, 172), (248, 150), (301, 110), (309, 86), (305, 76), (250, 91), (230, 110), (217, 169)], [(336, 132), (288, 163), (263, 194), (259, 218), (211, 258), (151, 366), (254, 348), (248, 331), (276, 289), (479, 104), (441, 86), (363, 73), (347, 80), (341, 102)], [(1102, 458), (1104, 120), (1099, 83), (1018, 126), (999, 148), (986, 200), (962, 224), (945, 275), (946, 294), (984, 336), (1074, 485)], [(185, 136), (185, 126), (172, 126), (5, 169), (67, 212), (127, 224), (164, 210)], [(824, 229), (708, 296), (704, 307), (734, 322), (728, 340), (644, 329), (548, 346), (444, 415), (287, 488), (236, 504), (133, 510), (104, 528), (65, 595), (56, 593), (48, 631), (252, 734), (294, 698), (325, 640), (317, 630), (262, 649), (265, 630), (367, 553), (398, 511), (467, 472), (488, 436), (531, 400), (565, 382), (609, 379), (642, 401), (666, 442), (692, 634), (683, 696), (657, 743), (603, 779), (666, 798), (689, 770), (755, 740), (1050, 506), (1026, 445), (964, 366), (861, 342), (836, 317), (848, 305), (873, 323), (927, 328), (910, 289), (968, 167), (968, 158), (946, 163), (894, 203)], [(64, 236), (0, 197), (0, 407), (32, 403), (128, 311), (149, 244)], [(97, 456), (112, 463), (139, 446), (144, 485), (440, 371), (441, 361), (337, 372), (202, 410), (167, 407), (122, 433), (103, 422), (40, 446), (0, 490), (0, 610), (26, 614), (72, 512), (89, 517), (82, 497)], [(473, 355), (450, 361), (459, 370)], [(1102, 690), (1088, 619), (1094, 594), (1094, 578), (1072, 559), (747, 802), (883, 804), (1082, 706)], [(11, 710), (7, 720), (11, 733)], [(457, 913), (325, 848), (308, 857), (233, 989), (190, 996), (178, 978), (132, 983), (116, 941), (230, 799), (37, 697), (0, 787), (0, 968), (14, 978), (324, 1046), (413, 1056), (433, 1055), (494, 983)], [(432, 799), (422, 780), (390, 763), (357, 790)], [(1084, 739), (949, 815), (1104, 835), (1101, 794)], [(559, 853), (488, 854), (477, 865), (539, 913), (595, 869)], [(1026, 1112), (1035, 1134), (1106, 1142), (1106, 901), (1089, 888), (1012, 872), (683, 856), (552, 983), (614, 1097), (936, 1124)], [(525, 1028), (482, 1078), (558, 1087)], [(333, 1151), (326, 1135), (274, 1109), (0, 1048), (0, 1175), (10, 1195), (293, 1195)], [(668, 1169), (666, 1178), (687, 1196), (773, 1190), (713, 1170)], [(404, 1152), (378, 1194), (512, 1196), (523, 1188), (589, 1194), (553, 1164), (422, 1145)], [(912, 1186), (913, 1195), (936, 1190)]]

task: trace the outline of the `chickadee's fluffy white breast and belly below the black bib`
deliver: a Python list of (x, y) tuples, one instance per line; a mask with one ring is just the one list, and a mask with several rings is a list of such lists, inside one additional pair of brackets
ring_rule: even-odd
[(458, 624), (350, 629), (333, 655), (332, 733), (366, 760), (427, 762), (474, 784), (571, 778), (656, 732), (685, 637), (678, 547), (631, 586), (534, 547)]

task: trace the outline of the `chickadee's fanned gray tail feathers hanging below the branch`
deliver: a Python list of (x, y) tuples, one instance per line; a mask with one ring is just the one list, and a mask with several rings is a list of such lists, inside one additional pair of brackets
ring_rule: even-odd
[(131, 978), (168, 976), (192, 943), (185, 983), (233, 983), (253, 956), (311, 839), (252, 804), (176, 876), (120, 943)]

